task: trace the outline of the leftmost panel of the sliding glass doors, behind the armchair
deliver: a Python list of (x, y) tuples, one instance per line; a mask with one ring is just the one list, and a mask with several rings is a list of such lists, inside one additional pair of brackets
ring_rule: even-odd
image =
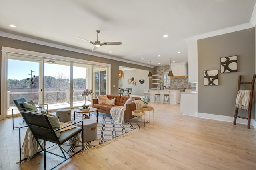
[[(15, 107), (13, 100), (17, 98), (25, 98), (26, 101), (33, 100), (35, 104), (41, 104), (42, 86), (40, 84), (42, 83), (42, 77), (39, 76), (39, 68), (42, 59), (39, 57), (9, 54), (7, 63), (8, 109)], [(18, 110), (14, 110), (14, 115), (18, 113)], [(10, 115), (12, 115), (12, 111), (7, 112), (7, 117)]]

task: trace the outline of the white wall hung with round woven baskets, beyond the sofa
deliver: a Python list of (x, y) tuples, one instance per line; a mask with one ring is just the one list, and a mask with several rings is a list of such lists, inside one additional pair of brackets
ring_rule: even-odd
[[(119, 80), (119, 88), (120, 84), (122, 83), (122, 88), (132, 88), (132, 96), (143, 96), (144, 89), (149, 88), (149, 78), (148, 78), (148, 71), (147, 70), (126, 70), (124, 72), (124, 78)], [(128, 83), (127, 80), (130, 78), (134, 78), (134, 82), (136, 82), (136, 85), (133, 86), (132, 83)], [(141, 84), (139, 82), (140, 79), (144, 80), (144, 83)]]

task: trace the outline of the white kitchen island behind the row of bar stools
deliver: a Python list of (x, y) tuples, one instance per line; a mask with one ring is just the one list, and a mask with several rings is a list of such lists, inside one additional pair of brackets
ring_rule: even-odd
[(144, 89), (144, 93), (149, 94), (150, 102), (154, 102), (155, 94), (160, 94), (160, 102), (163, 103), (164, 94), (170, 95), (170, 104), (179, 104), (180, 103), (180, 90), (173, 89)]

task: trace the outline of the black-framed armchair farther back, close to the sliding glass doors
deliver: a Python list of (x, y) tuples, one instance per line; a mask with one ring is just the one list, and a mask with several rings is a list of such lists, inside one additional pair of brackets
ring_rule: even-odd
[[(25, 98), (18, 98), (18, 99), (14, 99), (13, 100), (14, 104), (16, 105), (17, 109), (19, 110), (19, 112), (21, 113), (21, 111), (26, 111), (26, 109), (32, 109), (32, 108), (37, 108), (39, 109), (38, 111), (36, 111), (35, 113), (41, 113), (42, 111), (48, 111), (48, 105), (47, 104), (36, 104), (38, 105), (38, 107), (27, 107), (25, 108), (22, 104), (22, 102), (26, 102)], [(46, 106), (46, 109), (43, 109), (43, 107)], [(17, 109), (12, 109), (12, 128), (17, 128), (14, 127), (14, 116), (13, 116), (13, 111), (17, 110)], [(24, 120), (22, 121), (22, 123), (25, 123)]]

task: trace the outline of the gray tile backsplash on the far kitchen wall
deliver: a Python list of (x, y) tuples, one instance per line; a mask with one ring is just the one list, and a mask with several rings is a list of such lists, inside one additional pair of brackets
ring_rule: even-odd
[[(154, 74), (160, 74), (160, 76), (154, 76), (153, 78), (159, 78), (154, 82), (162, 82), (162, 74), (169, 72), (170, 66), (157, 66), (154, 67)], [(153, 84), (153, 88), (160, 88), (160, 84)], [(170, 78), (170, 88), (191, 88), (188, 78)]]

